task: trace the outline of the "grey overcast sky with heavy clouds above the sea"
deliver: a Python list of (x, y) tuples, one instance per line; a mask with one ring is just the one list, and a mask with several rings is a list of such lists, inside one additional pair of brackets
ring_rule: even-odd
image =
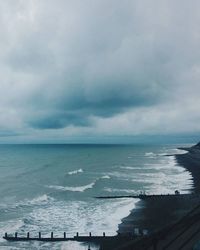
[(0, 0), (0, 142), (198, 134), (199, 10)]

